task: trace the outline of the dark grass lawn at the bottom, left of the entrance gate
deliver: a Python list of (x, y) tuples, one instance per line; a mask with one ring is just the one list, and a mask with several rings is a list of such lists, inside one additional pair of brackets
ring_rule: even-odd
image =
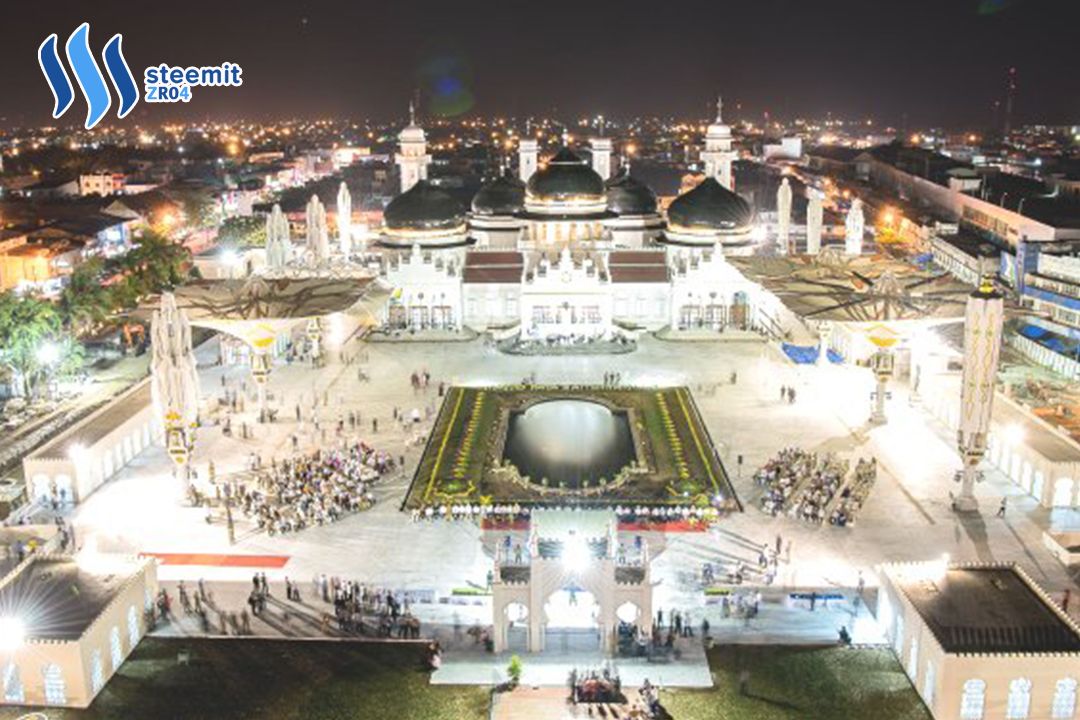
[[(190, 648), (191, 664), (176, 664)], [(486, 720), (484, 688), (430, 685), (422, 646), (146, 638), (86, 710), (50, 720)], [(24, 708), (0, 708), (9, 720)]]

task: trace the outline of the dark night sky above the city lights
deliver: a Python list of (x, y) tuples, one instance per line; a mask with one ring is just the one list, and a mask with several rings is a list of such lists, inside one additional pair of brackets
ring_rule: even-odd
[[(244, 68), (240, 89), (139, 103), (124, 123), (429, 113), (874, 117), (984, 126), (1018, 77), (1015, 122), (1080, 122), (1080, 0), (188, 0), (6, 2), (0, 123), (48, 124), (38, 44), (83, 21), (151, 64)], [(81, 97), (65, 116), (84, 114)], [(110, 114), (114, 119), (114, 114)]]

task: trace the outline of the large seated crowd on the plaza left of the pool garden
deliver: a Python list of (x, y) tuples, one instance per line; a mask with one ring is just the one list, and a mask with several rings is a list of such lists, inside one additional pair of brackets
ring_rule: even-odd
[(388, 453), (359, 441), (340, 450), (318, 450), (259, 467), (252, 484), (239, 483), (234, 498), (243, 514), (269, 534), (334, 522), (375, 504), (370, 486), (392, 472)]

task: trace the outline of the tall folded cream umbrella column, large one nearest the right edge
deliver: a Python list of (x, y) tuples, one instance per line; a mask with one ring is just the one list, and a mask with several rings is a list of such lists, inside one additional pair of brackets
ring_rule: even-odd
[(963, 317), (963, 376), (957, 431), (963, 470), (958, 473), (960, 494), (955, 499), (956, 508), (960, 511), (978, 507), (975, 480), (978, 479), (978, 463), (986, 454), (1003, 322), (1004, 298), (994, 289), (989, 279), (984, 279), (980, 288), (968, 296)]

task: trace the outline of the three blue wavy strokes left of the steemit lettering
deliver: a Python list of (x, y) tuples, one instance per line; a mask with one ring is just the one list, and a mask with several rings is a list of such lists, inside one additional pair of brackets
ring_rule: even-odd
[[(56, 50), (56, 40), (54, 32), (45, 38), (38, 47), (38, 63), (41, 65), (41, 71), (45, 74), (49, 89), (53, 91), (53, 99), (56, 101), (53, 107), (53, 118), (63, 116), (75, 101), (75, 90), (71, 87), (67, 70), (64, 69), (64, 64), (60, 62), (59, 53)], [(112, 36), (112, 39), (106, 43), (105, 50), (102, 51), (102, 59), (105, 62), (105, 68), (109, 72), (112, 86), (117, 90), (117, 95), (120, 96), (120, 110), (117, 112), (117, 117), (125, 118), (138, 103), (138, 87), (132, 71), (127, 68), (127, 62), (124, 60), (124, 54), (120, 47), (121, 41), (119, 32)], [(71, 65), (76, 82), (79, 83), (79, 90), (86, 98), (85, 127), (90, 130), (102, 122), (105, 113), (112, 106), (112, 95), (105, 84), (102, 68), (98, 67), (97, 60), (94, 59), (94, 55), (90, 51), (90, 23), (83, 23), (76, 28), (64, 45), (64, 52)]]

